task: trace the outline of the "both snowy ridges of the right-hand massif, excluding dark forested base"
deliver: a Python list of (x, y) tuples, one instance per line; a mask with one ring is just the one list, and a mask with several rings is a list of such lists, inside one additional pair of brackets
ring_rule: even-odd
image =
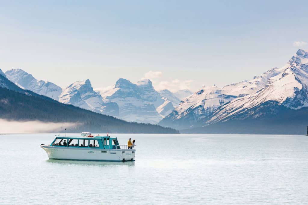
[(284, 67), (270, 69), (253, 80), (223, 88), (204, 86), (182, 101), (159, 124), (191, 128), (230, 119), (255, 119), (268, 114), (257, 110), (260, 111), (259, 106), (271, 101), (290, 109), (306, 107), (307, 64), (308, 54), (300, 49)]

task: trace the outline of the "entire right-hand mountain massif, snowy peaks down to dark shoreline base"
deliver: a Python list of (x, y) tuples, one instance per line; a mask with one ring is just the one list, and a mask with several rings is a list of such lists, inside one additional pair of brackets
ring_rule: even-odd
[(303, 133), (307, 108), (308, 53), (299, 49), (282, 68), (250, 81), (203, 86), (159, 124), (196, 133)]

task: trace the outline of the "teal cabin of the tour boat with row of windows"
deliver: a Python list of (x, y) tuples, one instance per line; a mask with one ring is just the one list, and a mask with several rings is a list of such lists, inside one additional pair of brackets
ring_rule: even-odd
[[(91, 136), (91, 133), (90, 133)], [(117, 138), (109, 136), (95, 137), (60, 137), (57, 136), (50, 146), (78, 147), (78, 148), (99, 148), (99, 149), (120, 149)]]

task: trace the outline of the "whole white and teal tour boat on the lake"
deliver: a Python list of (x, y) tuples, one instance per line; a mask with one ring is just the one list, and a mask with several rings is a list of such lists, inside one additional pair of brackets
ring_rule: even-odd
[(120, 145), (116, 137), (93, 136), (90, 132), (83, 132), (81, 137), (56, 136), (50, 145), (40, 146), (49, 159), (57, 160), (135, 161), (136, 152)]

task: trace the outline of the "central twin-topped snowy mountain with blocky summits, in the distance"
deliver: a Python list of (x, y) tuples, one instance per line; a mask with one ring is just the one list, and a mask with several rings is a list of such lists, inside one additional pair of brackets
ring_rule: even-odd
[(134, 84), (120, 78), (115, 85), (95, 91), (103, 98), (116, 102), (120, 118), (127, 121), (156, 124), (174, 109), (171, 100), (161, 96), (149, 79)]

